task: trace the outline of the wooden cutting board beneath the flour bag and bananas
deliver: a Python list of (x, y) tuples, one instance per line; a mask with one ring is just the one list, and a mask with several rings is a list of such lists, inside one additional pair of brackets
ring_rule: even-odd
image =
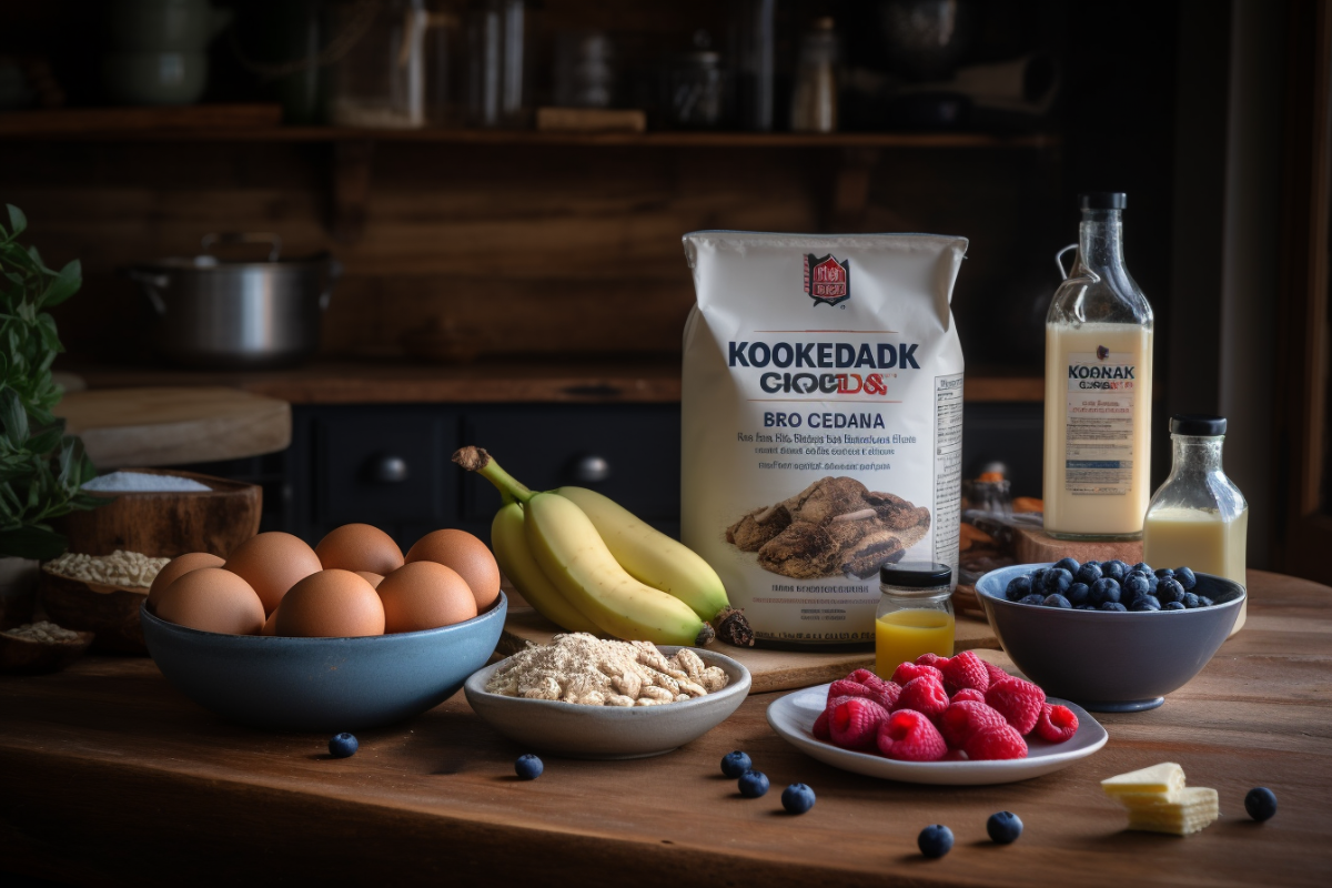
[[(505, 619), (503, 632), (500, 636), (500, 644), (496, 646), (496, 652), (507, 656), (521, 651), (527, 646), (527, 642), (546, 644), (559, 631), (559, 627), (526, 606), (521, 598), (514, 599), (510, 592), (509, 616)], [(999, 639), (995, 638), (990, 624), (959, 614), (955, 648), (964, 651), (982, 647), (999, 647)], [(874, 668), (874, 651), (815, 654), (731, 647), (721, 642), (715, 643), (713, 650), (745, 664), (754, 682), (750, 694), (823, 684), (846, 678), (854, 670)]]

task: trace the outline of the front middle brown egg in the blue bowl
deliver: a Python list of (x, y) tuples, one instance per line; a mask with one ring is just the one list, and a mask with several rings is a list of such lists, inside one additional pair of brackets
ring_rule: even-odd
[(384, 635), (384, 604), (370, 584), (352, 571), (321, 570), (282, 598), (273, 630), (304, 638)]

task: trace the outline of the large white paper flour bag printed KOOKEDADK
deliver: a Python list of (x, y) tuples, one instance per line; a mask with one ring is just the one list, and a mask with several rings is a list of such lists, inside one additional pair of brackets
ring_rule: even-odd
[(761, 643), (874, 640), (879, 567), (958, 567), (967, 241), (685, 236), (682, 541)]

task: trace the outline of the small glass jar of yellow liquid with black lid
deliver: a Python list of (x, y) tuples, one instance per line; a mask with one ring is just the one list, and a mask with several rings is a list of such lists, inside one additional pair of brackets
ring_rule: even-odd
[(899, 663), (934, 652), (952, 656), (952, 568), (900, 562), (879, 568), (874, 671), (887, 680)]

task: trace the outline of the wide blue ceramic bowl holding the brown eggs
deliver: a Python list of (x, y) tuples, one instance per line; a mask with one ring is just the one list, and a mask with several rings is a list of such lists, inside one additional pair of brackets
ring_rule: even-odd
[(442, 703), (486, 664), (509, 602), (424, 632), (368, 638), (220, 635), (140, 607), (157, 667), (189, 699), (232, 722), (276, 731), (353, 731)]

